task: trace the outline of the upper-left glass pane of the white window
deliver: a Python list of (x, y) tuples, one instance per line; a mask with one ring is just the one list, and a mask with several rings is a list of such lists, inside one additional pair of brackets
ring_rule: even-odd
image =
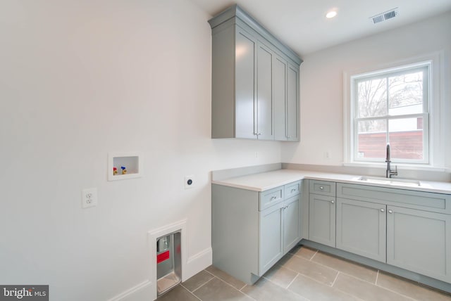
[(387, 79), (369, 79), (357, 84), (358, 117), (387, 115)]

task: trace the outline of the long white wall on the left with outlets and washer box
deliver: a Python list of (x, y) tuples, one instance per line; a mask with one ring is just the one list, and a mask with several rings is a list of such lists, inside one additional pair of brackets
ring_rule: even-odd
[[(149, 230), (186, 218), (187, 256), (208, 252), (211, 170), (280, 162), (278, 142), (210, 139), (208, 19), (186, 0), (0, 2), (1, 284), (114, 297), (149, 279)], [(141, 151), (144, 177), (107, 181), (112, 151)]]

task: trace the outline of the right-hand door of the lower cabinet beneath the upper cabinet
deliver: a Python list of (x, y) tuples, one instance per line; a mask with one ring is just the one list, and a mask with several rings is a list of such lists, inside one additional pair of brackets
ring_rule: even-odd
[(283, 251), (286, 254), (301, 240), (299, 195), (285, 200), (283, 207)]

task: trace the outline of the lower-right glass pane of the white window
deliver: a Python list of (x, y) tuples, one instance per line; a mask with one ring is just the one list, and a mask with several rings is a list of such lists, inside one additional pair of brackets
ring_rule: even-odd
[(393, 159), (423, 159), (423, 117), (388, 121), (391, 155)]

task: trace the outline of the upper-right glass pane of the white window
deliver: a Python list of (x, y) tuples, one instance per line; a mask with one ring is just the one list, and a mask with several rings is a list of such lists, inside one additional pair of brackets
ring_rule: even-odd
[(423, 113), (423, 72), (388, 78), (390, 115)]

